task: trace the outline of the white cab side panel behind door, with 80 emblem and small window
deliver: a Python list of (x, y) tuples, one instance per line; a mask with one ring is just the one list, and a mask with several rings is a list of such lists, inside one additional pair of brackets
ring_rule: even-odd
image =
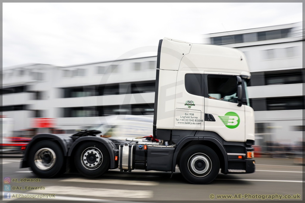
[(204, 130), (203, 74), (178, 71), (174, 129)]

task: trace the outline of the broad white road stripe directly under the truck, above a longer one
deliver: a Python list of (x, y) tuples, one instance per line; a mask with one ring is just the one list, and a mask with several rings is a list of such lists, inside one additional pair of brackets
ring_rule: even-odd
[(136, 180), (107, 180), (107, 179), (102, 179), (102, 180), (89, 180), (89, 179), (81, 179), (81, 178), (70, 178), (70, 179), (64, 179), (64, 180), (59, 180), (63, 182), (81, 182), (81, 183), (104, 183), (104, 184), (121, 184), (121, 185), (149, 185), (149, 186), (154, 186), (154, 185), (159, 185), (158, 182), (154, 181), (136, 181)]

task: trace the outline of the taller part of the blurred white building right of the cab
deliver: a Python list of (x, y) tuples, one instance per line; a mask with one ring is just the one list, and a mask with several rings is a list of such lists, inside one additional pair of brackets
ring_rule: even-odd
[(238, 48), (247, 57), (256, 144), (302, 141), (302, 22), (204, 35), (205, 43)]

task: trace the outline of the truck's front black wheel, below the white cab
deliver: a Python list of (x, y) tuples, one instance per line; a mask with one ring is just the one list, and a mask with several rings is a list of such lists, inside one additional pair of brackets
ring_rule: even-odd
[(179, 169), (182, 176), (193, 184), (208, 184), (219, 173), (219, 159), (215, 151), (204, 145), (193, 145), (181, 155)]

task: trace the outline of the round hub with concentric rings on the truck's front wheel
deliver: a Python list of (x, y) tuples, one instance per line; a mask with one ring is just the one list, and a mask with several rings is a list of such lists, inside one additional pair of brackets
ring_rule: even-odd
[(188, 160), (188, 170), (197, 177), (203, 177), (212, 169), (211, 159), (202, 153), (192, 155)]

